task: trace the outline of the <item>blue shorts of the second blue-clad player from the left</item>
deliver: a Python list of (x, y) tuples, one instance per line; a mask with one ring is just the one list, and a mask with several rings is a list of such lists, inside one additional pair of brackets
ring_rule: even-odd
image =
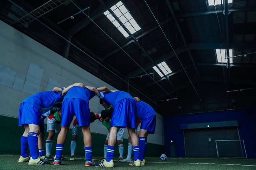
[(68, 98), (62, 103), (61, 109), (61, 126), (69, 126), (74, 115), (78, 121), (78, 125), (90, 126), (90, 109), (89, 105), (78, 98)]

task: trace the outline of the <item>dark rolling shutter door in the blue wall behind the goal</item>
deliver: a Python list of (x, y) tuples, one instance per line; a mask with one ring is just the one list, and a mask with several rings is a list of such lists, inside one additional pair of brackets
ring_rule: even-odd
[[(217, 157), (215, 140), (239, 140), (237, 127), (184, 129), (184, 137), (186, 157)], [(218, 142), (218, 149), (220, 156), (243, 157), (240, 141)]]

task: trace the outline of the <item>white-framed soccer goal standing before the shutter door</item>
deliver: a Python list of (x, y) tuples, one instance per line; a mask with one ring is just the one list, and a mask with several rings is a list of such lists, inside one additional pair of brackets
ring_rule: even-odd
[[(244, 148), (242, 148), (242, 144)], [(244, 152), (247, 158), (244, 140), (215, 140), (217, 155), (219, 157), (244, 157)], [(244, 152), (243, 152), (244, 149)], [(242, 155), (242, 156), (240, 156)]]

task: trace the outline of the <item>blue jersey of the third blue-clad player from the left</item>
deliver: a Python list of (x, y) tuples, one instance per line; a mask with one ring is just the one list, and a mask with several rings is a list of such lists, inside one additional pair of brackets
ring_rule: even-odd
[(104, 101), (104, 103), (108, 105), (112, 105), (113, 107), (115, 107), (116, 103), (118, 103), (122, 99), (133, 99), (133, 98), (129, 93), (126, 93), (124, 91), (115, 91), (112, 93), (104, 94), (104, 98), (102, 99), (102, 101)]

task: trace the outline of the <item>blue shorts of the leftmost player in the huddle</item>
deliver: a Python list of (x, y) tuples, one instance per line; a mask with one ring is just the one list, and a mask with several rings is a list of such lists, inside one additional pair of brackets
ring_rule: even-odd
[(19, 126), (28, 126), (28, 124), (34, 124), (40, 126), (41, 113), (40, 109), (28, 103), (20, 104), (19, 111)]

